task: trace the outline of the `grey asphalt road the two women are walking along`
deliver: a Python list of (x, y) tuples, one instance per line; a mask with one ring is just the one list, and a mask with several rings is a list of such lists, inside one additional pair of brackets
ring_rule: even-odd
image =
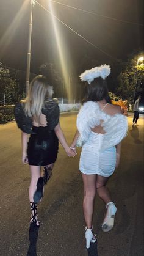
[[(99, 256), (143, 256), (143, 116), (123, 141), (121, 163), (108, 186), (117, 203), (115, 227), (103, 233), (104, 204), (95, 201), (93, 226)], [(60, 117), (67, 141), (73, 137), (76, 113)], [(29, 247), (29, 166), (21, 163), (20, 130), (15, 123), (0, 126), (0, 255), (27, 255)], [(87, 256), (82, 215), (83, 185), (79, 154), (68, 158), (63, 148), (38, 205), (40, 229), (37, 256)]]

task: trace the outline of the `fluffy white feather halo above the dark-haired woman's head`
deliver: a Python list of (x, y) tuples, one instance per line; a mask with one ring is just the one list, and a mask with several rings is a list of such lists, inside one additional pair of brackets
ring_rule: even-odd
[(99, 67), (92, 68), (90, 70), (85, 70), (79, 78), (81, 81), (87, 81), (90, 84), (95, 78), (103, 78), (105, 79), (110, 74), (110, 66), (109, 65), (101, 65)]

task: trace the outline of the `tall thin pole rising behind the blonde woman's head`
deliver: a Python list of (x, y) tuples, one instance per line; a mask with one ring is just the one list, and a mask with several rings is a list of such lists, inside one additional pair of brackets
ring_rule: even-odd
[(29, 37), (28, 37), (28, 46), (27, 46), (27, 65), (26, 65), (26, 94), (29, 89), (29, 73), (30, 73), (30, 63), (31, 63), (31, 39), (32, 39), (32, 10), (34, 7), (35, 1), (31, 0), (31, 9), (29, 15)]

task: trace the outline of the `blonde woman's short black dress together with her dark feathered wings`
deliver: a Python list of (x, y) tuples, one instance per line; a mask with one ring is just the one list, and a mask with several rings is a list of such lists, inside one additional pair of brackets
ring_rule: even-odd
[(15, 120), (24, 133), (31, 134), (27, 144), (27, 157), (29, 165), (46, 166), (57, 159), (59, 141), (54, 128), (59, 123), (59, 106), (56, 99), (45, 103), (42, 113), (46, 116), (47, 126), (32, 126), (32, 119), (24, 112), (24, 103), (15, 106)]

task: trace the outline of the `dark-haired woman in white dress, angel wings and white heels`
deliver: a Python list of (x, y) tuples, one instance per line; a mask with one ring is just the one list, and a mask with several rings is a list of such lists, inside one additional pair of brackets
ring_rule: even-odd
[[(91, 72), (91, 71), (90, 71)], [(99, 76), (96, 71), (95, 76)], [(77, 132), (71, 148), (75, 152), (79, 136), (83, 141), (79, 170), (84, 182), (83, 210), (86, 247), (96, 241), (93, 233), (93, 206), (95, 194), (106, 204), (102, 229), (113, 228), (117, 208), (106, 183), (120, 161), (121, 140), (126, 136), (127, 120), (120, 106), (111, 104), (106, 81), (101, 77), (87, 83), (87, 93), (77, 116)]]

